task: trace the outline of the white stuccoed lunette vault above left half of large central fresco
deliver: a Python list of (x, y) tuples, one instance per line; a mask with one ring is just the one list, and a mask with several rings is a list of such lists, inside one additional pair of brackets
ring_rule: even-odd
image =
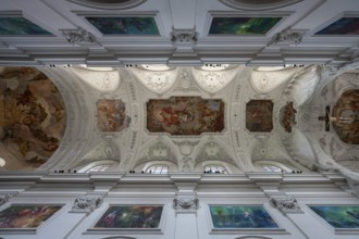
[(157, 95), (169, 91), (174, 86), (180, 72), (177, 67), (165, 65), (140, 65), (131, 70), (143, 86)]

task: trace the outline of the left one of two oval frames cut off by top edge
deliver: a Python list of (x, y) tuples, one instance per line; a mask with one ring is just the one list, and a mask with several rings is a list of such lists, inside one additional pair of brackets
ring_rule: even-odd
[(70, 2), (94, 9), (123, 10), (143, 4), (147, 0), (67, 0)]

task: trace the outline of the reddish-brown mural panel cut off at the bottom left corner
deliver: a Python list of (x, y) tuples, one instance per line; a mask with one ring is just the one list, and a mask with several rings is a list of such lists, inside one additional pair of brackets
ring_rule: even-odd
[(37, 228), (61, 209), (59, 205), (12, 205), (0, 212), (0, 228)]

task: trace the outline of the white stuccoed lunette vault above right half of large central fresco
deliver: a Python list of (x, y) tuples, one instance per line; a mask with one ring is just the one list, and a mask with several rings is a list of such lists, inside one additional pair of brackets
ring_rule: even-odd
[(191, 74), (202, 90), (216, 93), (223, 90), (244, 68), (245, 65), (209, 64), (191, 67)]

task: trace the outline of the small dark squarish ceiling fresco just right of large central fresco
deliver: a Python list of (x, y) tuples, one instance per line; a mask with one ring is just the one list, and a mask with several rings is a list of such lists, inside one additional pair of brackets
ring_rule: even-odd
[(246, 105), (246, 127), (249, 131), (271, 131), (273, 129), (273, 102), (251, 100)]

